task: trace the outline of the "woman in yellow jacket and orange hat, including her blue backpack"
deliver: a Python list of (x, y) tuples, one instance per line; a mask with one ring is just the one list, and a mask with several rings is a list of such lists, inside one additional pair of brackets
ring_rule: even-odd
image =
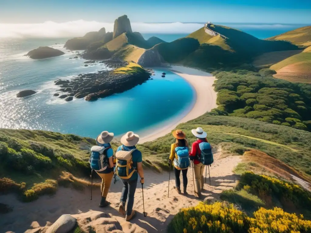
[(180, 190), (180, 171), (183, 174), (183, 194), (187, 195), (187, 172), (189, 167), (189, 149), (188, 142), (185, 139), (186, 134), (182, 130), (175, 130), (173, 133), (176, 142), (171, 144), (171, 153), (169, 156), (169, 164), (173, 162), (175, 173), (175, 190), (181, 194)]

